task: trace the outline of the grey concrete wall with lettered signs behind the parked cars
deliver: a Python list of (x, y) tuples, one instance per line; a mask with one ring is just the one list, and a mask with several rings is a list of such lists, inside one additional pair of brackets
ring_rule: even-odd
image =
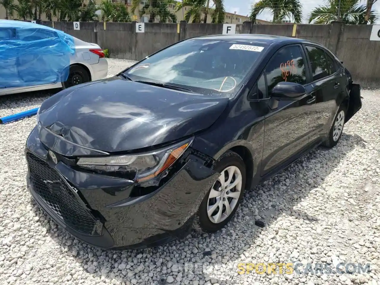
[[(41, 22), (52, 26), (52, 22)], [(54, 28), (109, 50), (110, 57), (141, 60), (159, 49), (193, 36), (222, 33), (223, 24), (160, 24), (145, 23), (145, 32), (136, 33), (136, 23), (83, 22), (74, 30), (72, 22), (54, 22)], [(380, 88), (380, 42), (370, 41), (371, 25), (271, 24), (254, 25), (244, 22), (236, 25), (236, 33), (257, 33), (295, 36), (316, 41), (328, 47), (343, 60), (353, 79), (363, 87)], [(295, 32), (295, 33), (294, 33)], [(294, 35), (293, 35), (294, 33)]]

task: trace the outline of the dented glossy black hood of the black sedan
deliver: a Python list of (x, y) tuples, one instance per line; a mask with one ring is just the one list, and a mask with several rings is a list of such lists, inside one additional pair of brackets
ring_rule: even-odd
[(222, 114), (228, 101), (113, 77), (48, 98), (41, 105), (39, 120), (66, 141), (119, 152), (204, 130)]

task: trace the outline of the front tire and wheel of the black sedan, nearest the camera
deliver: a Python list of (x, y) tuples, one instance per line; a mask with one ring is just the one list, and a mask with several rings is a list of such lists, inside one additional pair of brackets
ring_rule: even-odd
[[(215, 161), (213, 169), (215, 171), (218, 171), (218, 173), (221, 173), (221, 175), (214, 182), (214, 185), (212, 185), (211, 189), (207, 192), (206, 196), (201, 202), (193, 222), (193, 228), (203, 233), (215, 233), (216, 231), (224, 228), (224, 226), (231, 220), (231, 218), (235, 214), (237, 208), (239, 207), (239, 204), (241, 203), (242, 198), (244, 197), (246, 170), (244, 161), (238, 154), (231, 150), (228, 150), (227, 152), (222, 154), (217, 161)], [(230, 185), (233, 185), (233, 183), (236, 181), (235, 179), (239, 176), (241, 177), (241, 182), (238, 182), (231, 189), (233, 191), (227, 191), (228, 188), (225, 191), (220, 191), (220, 187), (222, 185), (220, 179), (225, 173), (225, 182), (228, 181), (228, 170), (230, 170), (230, 173), (232, 173), (233, 169), (233, 180), (231, 181)], [(218, 191), (216, 191), (215, 189), (218, 189)], [(218, 194), (217, 192), (222, 192), (223, 194)], [(237, 192), (239, 192), (239, 194), (232, 194)], [(211, 193), (219, 196), (217, 198), (210, 198), (209, 202), (209, 196)], [(226, 213), (226, 201), (229, 202), (228, 204), (230, 205), (230, 209), (232, 209), (229, 215), (227, 215)], [(215, 206), (215, 204), (220, 204), (222, 205), (222, 207)], [(211, 208), (212, 206), (216, 208), (214, 209), (214, 213), (211, 214), (210, 218), (207, 214), (207, 209), (208, 207)], [(218, 215), (220, 214), (220, 211), (218, 211), (220, 209), (222, 209), (222, 213), (221, 215)], [(219, 222), (217, 220), (218, 217), (220, 217)]]

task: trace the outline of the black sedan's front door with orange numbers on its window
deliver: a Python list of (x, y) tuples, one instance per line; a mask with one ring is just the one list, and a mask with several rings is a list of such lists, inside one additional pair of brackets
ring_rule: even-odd
[[(277, 51), (265, 68), (268, 96), (279, 82), (307, 84), (307, 65), (299, 45)], [(298, 98), (282, 99), (277, 108), (269, 109), (265, 117), (264, 147), (261, 176), (297, 155), (308, 144), (313, 121), (315, 97), (306, 93)], [(274, 106), (275, 107), (275, 106)]]

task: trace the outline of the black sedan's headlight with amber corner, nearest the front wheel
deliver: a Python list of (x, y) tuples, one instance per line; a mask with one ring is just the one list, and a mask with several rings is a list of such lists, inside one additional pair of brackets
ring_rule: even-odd
[(152, 179), (168, 169), (187, 150), (193, 138), (160, 150), (136, 155), (81, 157), (77, 165), (91, 171), (130, 173), (138, 182)]

